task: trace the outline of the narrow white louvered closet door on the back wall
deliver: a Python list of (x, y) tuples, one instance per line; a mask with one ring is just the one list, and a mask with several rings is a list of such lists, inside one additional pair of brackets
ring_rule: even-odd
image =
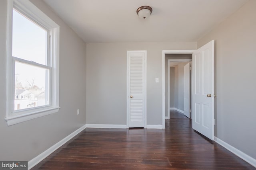
[(128, 127), (146, 125), (146, 51), (127, 51)]

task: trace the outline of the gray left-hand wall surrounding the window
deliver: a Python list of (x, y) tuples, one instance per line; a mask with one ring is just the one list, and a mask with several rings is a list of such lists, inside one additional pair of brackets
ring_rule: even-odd
[(7, 0), (0, 0), (0, 160), (31, 160), (86, 122), (86, 44), (42, 1), (32, 2), (60, 25), (61, 109), (58, 113), (7, 126), (4, 120)]

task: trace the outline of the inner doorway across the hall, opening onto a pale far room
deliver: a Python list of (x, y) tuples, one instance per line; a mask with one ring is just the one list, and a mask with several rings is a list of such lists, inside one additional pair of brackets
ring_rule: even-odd
[(180, 57), (190, 59), (168, 59), (167, 76), (167, 116), (165, 119), (190, 119), (191, 102), (191, 61), (192, 55), (168, 55), (168, 58)]

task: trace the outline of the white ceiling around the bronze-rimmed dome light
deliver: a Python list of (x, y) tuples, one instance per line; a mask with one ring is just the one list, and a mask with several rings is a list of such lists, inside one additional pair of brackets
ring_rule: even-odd
[[(86, 43), (194, 42), (248, 0), (44, 0)], [(136, 10), (151, 6), (151, 16)]]

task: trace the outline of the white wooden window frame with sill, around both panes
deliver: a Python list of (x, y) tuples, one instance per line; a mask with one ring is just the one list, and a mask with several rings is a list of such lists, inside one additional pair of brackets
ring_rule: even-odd
[[(30, 20), (44, 27), (51, 36), (49, 66), (50, 74), (50, 95), (49, 105), (32, 107), (28, 109), (14, 111), (14, 64), (12, 57), (12, 10), (15, 8)], [(60, 54), (60, 27), (52, 21), (46, 14), (39, 10), (29, 0), (8, 0), (7, 11), (7, 59), (6, 59), (6, 118), (7, 125), (35, 119), (59, 111), (59, 54)]]

